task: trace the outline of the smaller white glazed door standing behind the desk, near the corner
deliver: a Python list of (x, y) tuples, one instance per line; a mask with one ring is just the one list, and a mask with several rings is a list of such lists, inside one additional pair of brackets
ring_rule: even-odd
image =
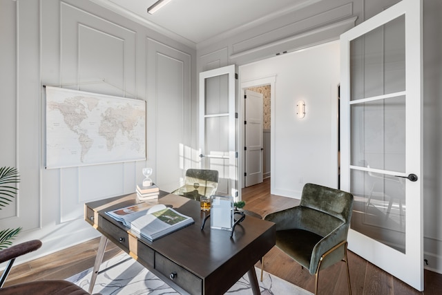
[(238, 193), (235, 65), (200, 73), (199, 141), (203, 169), (218, 170), (218, 194)]

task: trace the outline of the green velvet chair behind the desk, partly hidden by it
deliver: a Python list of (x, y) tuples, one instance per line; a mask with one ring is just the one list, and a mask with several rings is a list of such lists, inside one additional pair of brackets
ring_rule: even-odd
[(218, 189), (218, 171), (209, 169), (187, 169), (184, 185), (172, 191), (175, 195), (193, 200), (201, 196), (212, 196)]

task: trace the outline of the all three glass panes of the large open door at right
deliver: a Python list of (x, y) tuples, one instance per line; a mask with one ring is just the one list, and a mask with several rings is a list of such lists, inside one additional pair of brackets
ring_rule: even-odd
[(351, 41), (350, 55), (351, 227), (405, 253), (404, 178), (358, 170), (405, 173), (405, 16)]

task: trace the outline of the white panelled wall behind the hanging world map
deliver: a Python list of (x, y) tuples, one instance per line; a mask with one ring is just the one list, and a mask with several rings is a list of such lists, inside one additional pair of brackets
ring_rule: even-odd
[[(21, 175), (0, 220), (23, 227), (16, 242), (42, 240), (25, 260), (99, 236), (84, 203), (133, 193), (144, 166), (161, 189), (179, 186), (195, 136), (195, 49), (86, 0), (2, 0), (0, 22), (0, 166)], [(42, 85), (145, 100), (147, 160), (45, 169)]]

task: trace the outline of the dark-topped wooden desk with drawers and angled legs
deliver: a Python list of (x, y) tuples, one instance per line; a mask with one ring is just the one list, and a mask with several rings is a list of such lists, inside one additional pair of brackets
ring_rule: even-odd
[(172, 205), (195, 224), (149, 242), (105, 213), (136, 202), (131, 194), (85, 204), (85, 220), (103, 234), (89, 292), (111, 240), (180, 294), (224, 294), (246, 272), (253, 294), (260, 294), (254, 265), (275, 245), (273, 222), (247, 216), (230, 238), (230, 231), (211, 229), (210, 220), (200, 229), (206, 213), (200, 211), (199, 202), (161, 193), (158, 203)]

